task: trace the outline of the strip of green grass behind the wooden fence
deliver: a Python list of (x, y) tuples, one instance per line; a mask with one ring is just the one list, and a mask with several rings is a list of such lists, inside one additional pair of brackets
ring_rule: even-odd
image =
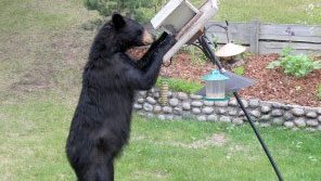
[[(191, 1), (200, 3), (200, 0)], [(219, 12), (215, 20), (321, 24), (320, 0), (218, 0), (218, 2)]]

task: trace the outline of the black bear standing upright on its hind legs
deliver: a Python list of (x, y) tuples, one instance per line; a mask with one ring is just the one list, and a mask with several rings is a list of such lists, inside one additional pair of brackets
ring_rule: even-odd
[[(134, 92), (154, 86), (163, 56), (176, 42), (166, 33), (153, 41), (142, 25), (120, 14), (94, 38), (66, 144), (78, 180), (114, 180), (113, 161), (129, 138)], [(129, 48), (150, 43), (139, 61), (126, 54)]]

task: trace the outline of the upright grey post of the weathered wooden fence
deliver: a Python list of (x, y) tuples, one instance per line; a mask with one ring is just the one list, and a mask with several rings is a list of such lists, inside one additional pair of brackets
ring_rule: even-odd
[(259, 53), (259, 26), (260, 22), (258, 20), (251, 22), (249, 51), (256, 54)]

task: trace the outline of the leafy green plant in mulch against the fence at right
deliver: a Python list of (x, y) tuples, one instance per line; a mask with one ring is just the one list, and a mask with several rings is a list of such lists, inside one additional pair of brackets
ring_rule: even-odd
[(283, 49), (279, 60), (271, 62), (267, 68), (282, 67), (285, 74), (304, 77), (314, 69), (321, 68), (320, 61), (313, 61), (305, 54), (292, 55), (293, 49)]

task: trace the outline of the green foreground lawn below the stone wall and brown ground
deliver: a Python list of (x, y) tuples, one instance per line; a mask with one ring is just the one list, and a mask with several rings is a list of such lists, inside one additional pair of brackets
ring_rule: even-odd
[[(0, 106), (0, 180), (75, 180), (64, 146), (74, 102), (47, 94)], [(285, 180), (321, 178), (321, 132), (261, 129)], [(116, 180), (277, 180), (248, 125), (134, 116)]]

